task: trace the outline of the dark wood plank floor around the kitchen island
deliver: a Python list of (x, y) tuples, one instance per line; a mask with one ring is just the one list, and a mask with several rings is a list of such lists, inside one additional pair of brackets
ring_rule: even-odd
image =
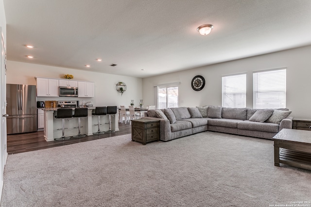
[[(65, 141), (45, 141), (43, 137), (43, 131), (22, 133), (22, 134), (11, 134), (7, 135), (7, 152), (8, 154), (17, 154), (21, 152), (35, 151), (39, 149), (47, 149), (56, 146), (63, 146), (73, 143), (87, 142), (91, 140), (103, 139), (106, 137), (114, 137), (124, 134), (131, 133), (131, 125), (119, 123), (119, 131), (114, 133), (104, 133), (101, 135), (90, 135), (84, 138), (71, 138)], [(66, 134), (65, 134), (66, 135)]]

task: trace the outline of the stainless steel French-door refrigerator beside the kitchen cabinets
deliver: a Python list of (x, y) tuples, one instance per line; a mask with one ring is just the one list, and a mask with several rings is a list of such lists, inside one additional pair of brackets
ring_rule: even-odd
[(7, 134), (37, 130), (35, 85), (6, 84)]

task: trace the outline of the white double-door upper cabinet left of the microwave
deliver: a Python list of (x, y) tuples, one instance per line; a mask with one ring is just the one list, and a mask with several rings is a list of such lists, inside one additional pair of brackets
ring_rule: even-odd
[(36, 78), (37, 96), (58, 96), (58, 79)]

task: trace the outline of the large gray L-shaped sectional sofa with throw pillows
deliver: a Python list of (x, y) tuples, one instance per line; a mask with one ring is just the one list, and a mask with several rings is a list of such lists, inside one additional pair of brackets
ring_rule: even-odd
[(148, 110), (146, 119), (160, 120), (160, 140), (170, 141), (202, 131), (272, 139), (282, 128), (292, 128), (288, 109), (249, 109), (205, 106)]

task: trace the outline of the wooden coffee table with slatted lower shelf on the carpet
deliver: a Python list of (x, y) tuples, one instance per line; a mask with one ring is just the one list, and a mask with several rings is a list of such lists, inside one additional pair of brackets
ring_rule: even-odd
[(311, 131), (283, 128), (274, 140), (274, 165), (279, 163), (311, 170)]

